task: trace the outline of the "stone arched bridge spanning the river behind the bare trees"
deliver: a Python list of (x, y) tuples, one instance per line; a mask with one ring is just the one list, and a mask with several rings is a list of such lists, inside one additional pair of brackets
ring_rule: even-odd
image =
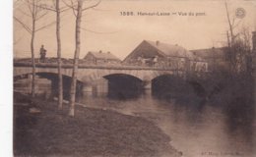
[[(66, 90), (70, 87), (72, 66), (72, 64), (62, 65), (63, 84)], [(39, 78), (50, 79), (52, 89), (57, 89), (58, 70), (56, 63), (37, 63), (35, 73)], [(30, 78), (31, 75), (31, 63), (14, 63), (15, 80)], [(80, 64), (77, 75), (80, 90), (93, 92), (117, 90), (118, 92), (130, 91), (134, 94), (141, 91), (154, 92), (154, 90), (167, 88), (170, 83), (177, 83), (176, 79), (173, 78), (179, 79), (180, 82), (190, 81), (187, 70), (170, 67)]]

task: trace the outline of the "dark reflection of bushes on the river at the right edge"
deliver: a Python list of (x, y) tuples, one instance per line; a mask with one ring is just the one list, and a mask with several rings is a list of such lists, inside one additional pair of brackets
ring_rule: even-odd
[(225, 124), (228, 136), (233, 140), (241, 141), (251, 145), (247, 147), (249, 152), (255, 148), (255, 106), (246, 97), (236, 97), (231, 103), (224, 107)]

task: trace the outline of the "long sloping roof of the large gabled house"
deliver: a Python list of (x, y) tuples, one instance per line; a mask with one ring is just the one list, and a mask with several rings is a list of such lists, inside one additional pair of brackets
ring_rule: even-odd
[(166, 55), (167, 57), (190, 57), (193, 58), (193, 53), (186, 50), (182, 46), (179, 46), (177, 44), (168, 44), (168, 43), (162, 43), (160, 41), (150, 41), (145, 40), (158, 50), (160, 50), (161, 53)]

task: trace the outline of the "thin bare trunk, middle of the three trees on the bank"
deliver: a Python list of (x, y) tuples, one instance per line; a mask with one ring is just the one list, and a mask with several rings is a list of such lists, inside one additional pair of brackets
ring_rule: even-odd
[(58, 56), (58, 108), (62, 109), (63, 100), (63, 82), (62, 82), (62, 72), (61, 72), (61, 38), (60, 38), (60, 9), (59, 0), (56, 0), (56, 36), (57, 36), (57, 56)]

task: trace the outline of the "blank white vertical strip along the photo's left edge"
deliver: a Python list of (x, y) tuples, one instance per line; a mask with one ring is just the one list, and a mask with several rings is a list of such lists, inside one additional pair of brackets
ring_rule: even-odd
[(0, 1), (0, 156), (13, 156), (13, 1)]

